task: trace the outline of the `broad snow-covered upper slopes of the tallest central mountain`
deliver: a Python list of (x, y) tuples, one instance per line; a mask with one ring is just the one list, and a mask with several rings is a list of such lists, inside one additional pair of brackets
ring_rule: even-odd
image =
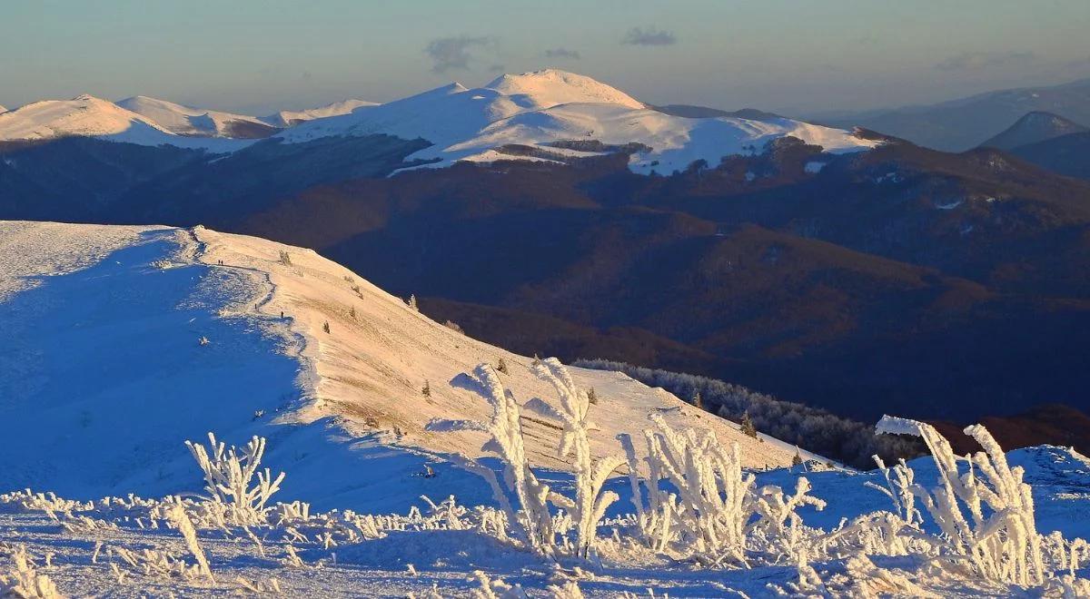
[[(556, 143), (642, 144), (650, 149), (634, 154), (631, 168), (643, 173), (668, 173), (699, 159), (716, 164), (724, 156), (761, 151), (767, 142), (787, 135), (831, 152), (876, 145), (851, 132), (790, 119), (674, 117), (644, 108), (627, 94), (590, 77), (556, 70), (504, 75), (475, 89), (455, 83), (351, 114), (303, 123), (278, 137), (300, 143), (376, 133), (431, 142), (431, 147), (409, 157), (433, 161), (429, 167), (458, 160), (542, 160), (550, 154), (570, 155), (570, 150), (553, 147)], [(532, 146), (538, 154), (508, 154), (504, 151), (507, 145)]]

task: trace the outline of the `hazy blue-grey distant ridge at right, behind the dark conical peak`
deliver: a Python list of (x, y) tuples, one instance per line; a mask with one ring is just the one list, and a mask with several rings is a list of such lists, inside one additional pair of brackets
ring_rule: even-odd
[(1030, 112), (1090, 124), (1090, 80), (989, 91), (930, 106), (815, 115), (813, 120), (839, 127), (862, 126), (944, 151), (965, 151)]

